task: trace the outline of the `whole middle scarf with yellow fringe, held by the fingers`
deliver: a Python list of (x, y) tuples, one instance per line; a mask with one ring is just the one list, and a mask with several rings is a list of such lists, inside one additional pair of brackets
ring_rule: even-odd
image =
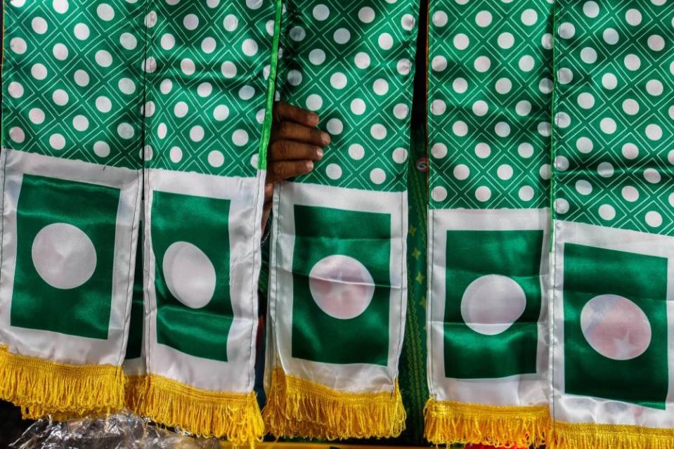
[(265, 423), (277, 437), (397, 436), (416, 5), (286, 6), (280, 99), (318, 112), (332, 143), (275, 192)]

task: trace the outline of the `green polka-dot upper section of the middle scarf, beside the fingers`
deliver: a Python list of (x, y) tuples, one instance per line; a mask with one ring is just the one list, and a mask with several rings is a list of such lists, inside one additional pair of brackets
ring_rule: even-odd
[(289, 1), (279, 96), (315, 110), (332, 143), (297, 182), (406, 189), (417, 4)]

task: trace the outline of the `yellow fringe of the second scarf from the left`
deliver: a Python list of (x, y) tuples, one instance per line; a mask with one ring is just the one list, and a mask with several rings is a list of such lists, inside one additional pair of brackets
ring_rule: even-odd
[(160, 375), (136, 383), (132, 411), (196, 436), (227, 438), (233, 445), (262, 441), (264, 424), (254, 392), (207, 391)]

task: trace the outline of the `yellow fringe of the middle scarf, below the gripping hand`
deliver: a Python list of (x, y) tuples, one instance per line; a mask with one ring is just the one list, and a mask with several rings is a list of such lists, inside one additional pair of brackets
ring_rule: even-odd
[(281, 368), (272, 372), (262, 410), (267, 430), (276, 438), (389, 438), (405, 428), (406, 413), (398, 388), (384, 393), (345, 393)]

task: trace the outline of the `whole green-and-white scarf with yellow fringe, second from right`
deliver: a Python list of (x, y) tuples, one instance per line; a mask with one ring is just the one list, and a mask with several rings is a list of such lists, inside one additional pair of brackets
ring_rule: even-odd
[(426, 437), (538, 446), (550, 425), (552, 4), (430, 3)]

